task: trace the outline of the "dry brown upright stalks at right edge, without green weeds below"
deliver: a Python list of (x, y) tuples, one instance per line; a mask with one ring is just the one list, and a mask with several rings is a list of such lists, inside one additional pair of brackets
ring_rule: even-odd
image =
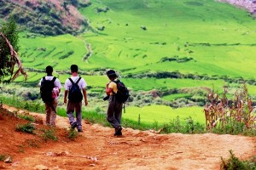
[(253, 115), (255, 108), (252, 100), (248, 97), (247, 88), (244, 84), (239, 92), (235, 93), (233, 101), (227, 99), (227, 90), (224, 90), (222, 98), (213, 90), (208, 94), (209, 102), (205, 105), (207, 130), (217, 125), (224, 128), (229, 121), (244, 123), (247, 128), (255, 128), (256, 116)]

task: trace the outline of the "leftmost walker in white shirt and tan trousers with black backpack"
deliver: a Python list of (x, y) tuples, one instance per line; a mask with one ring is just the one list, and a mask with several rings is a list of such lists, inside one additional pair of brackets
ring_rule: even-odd
[(46, 125), (55, 127), (56, 108), (58, 105), (58, 96), (61, 92), (61, 82), (53, 77), (53, 68), (48, 65), (45, 68), (46, 77), (39, 82), (41, 98), (45, 104)]

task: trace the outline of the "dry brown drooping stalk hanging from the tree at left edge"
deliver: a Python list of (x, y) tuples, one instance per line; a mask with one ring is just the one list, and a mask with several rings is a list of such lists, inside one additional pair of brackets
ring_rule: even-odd
[(25, 80), (26, 80), (26, 78), (27, 78), (26, 71), (24, 71), (22, 68), (21, 61), (20, 61), (20, 58), (19, 58), (17, 52), (15, 51), (15, 49), (13, 48), (13, 46), (11, 45), (11, 43), (9, 42), (7, 37), (5, 37), (2, 32), (0, 32), (0, 36), (3, 37), (3, 39), (5, 40), (5, 42), (7, 43), (8, 47), (9, 47), (9, 53), (11, 56), (10, 60), (11, 60), (11, 65), (12, 65), (11, 73), (13, 73), (15, 70), (15, 64), (18, 65), (18, 70), (15, 71), (15, 74), (13, 75), (11, 80), (14, 81), (15, 78), (17, 78), (20, 75), (20, 73), (25, 77)]

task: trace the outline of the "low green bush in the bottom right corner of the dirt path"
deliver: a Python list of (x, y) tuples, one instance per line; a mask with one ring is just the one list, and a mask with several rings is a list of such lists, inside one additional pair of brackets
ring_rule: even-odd
[(222, 170), (255, 170), (256, 169), (256, 157), (253, 157), (252, 160), (249, 161), (241, 161), (239, 160), (232, 150), (230, 150), (230, 158), (228, 160), (224, 160), (221, 157), (221, 167)]

